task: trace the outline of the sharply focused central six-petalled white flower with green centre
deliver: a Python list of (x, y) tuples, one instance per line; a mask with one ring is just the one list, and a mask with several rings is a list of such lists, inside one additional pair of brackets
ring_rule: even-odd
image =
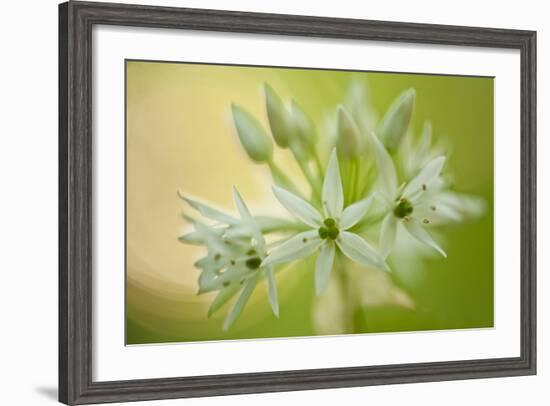
[(295, 235), (274, 248), (262, 266), (294, 261), (319, 251), (315, 264), (315, 291), (321, 293), (329, 282), (338, 249), (365, 266), (389, 270), (382, 257), (361, 236), (350, 231), (367, 213), (372, 196), (344, 208), (344, 193), (336, 150), (333, 150), (323, 181), (322, 205), (318, 211), (310, 203), (289, 191), (274, 186), (281, 204), (311, 229)]

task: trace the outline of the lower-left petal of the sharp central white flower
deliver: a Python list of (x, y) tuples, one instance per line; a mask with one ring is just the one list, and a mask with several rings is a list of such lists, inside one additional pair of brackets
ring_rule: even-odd
[(294, 261), (307, 257), (315, 252), (324, 241), (319, 238), (317, 230), (310, 230), (288, 239), (274, 248), (262, 262), (269, 266), (281, 262)]

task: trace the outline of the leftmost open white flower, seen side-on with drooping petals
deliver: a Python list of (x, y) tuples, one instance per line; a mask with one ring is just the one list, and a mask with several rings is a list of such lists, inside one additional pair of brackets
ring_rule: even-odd
[(198, 260), (195, 266), (202, 270), (199, 294), (218, 291), (210, 306), (209, 316), (241, 291), (225, 319), (225, 330), (240, 315), (261, 278), (267, 279), (269, 302), (273, 314), (279, 316), (275, 270), (272, 265), (262, 265), (267, 253), (262, 230), (236, 188), (233, 189), (233, 198), (240, 214), (239, 219), (184, 197), (205, 217), (228, 223), (220, 228), (193, 220), (195, 232), (182, 237), (185, 242), (202, 243), (208, 249), (207, 256)]

